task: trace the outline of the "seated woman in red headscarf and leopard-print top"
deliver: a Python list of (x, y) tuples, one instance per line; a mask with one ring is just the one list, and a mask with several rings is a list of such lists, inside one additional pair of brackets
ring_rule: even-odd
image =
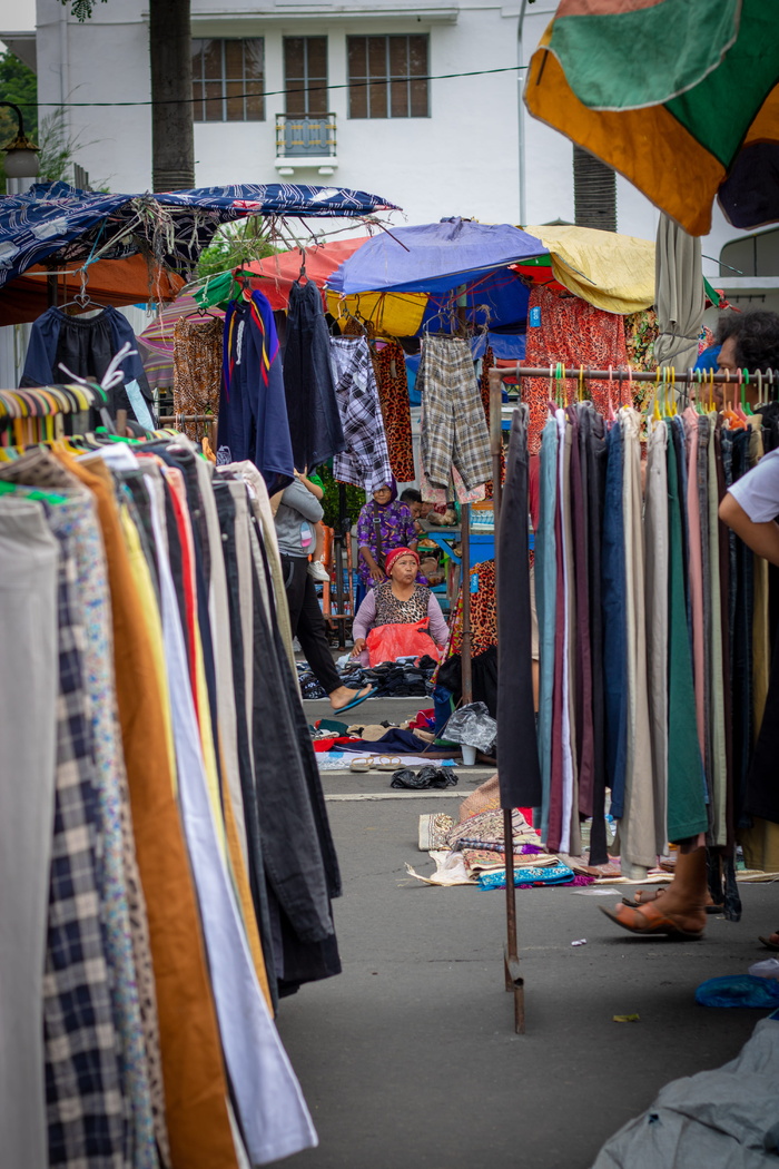
[(368, 593), (354, 618), (352, 657), (360, 658), (360, 664), (364, 666), (369, 665), (366, 638), (371, 628), (416, 624), (427, 620), (430, 636), (439, 649), (446, 644), (448, 636), (438, 601), (429, 588), (417, 583), (417, 553), (412, 548), (394, 548), (387, 556), (385, 566), (389, 580)]

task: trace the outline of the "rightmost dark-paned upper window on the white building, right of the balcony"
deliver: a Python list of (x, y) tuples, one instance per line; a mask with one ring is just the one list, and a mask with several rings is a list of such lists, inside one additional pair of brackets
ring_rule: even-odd
[(426, 118), (427, 37), (348, 36), (349, 117)]

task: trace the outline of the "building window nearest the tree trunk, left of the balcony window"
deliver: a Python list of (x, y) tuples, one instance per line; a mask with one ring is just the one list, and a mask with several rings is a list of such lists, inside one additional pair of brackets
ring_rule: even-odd
[(262, 122), (264, 46), (249, 40), (192, 42), (195, 122)]

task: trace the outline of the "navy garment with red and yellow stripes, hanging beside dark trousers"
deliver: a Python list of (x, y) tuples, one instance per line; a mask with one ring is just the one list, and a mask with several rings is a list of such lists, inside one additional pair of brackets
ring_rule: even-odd
[(224, 317), (218, 465), (249, 458), (271, 494), (294, 478), (284, 374), (273, 311), (255, 291)]

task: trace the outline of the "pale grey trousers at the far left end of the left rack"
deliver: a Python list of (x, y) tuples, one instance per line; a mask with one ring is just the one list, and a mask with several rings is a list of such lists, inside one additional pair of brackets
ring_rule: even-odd
[[(40, 504), (0, 500), (0, 1132), (8, 1165), (48, 1164), (43, 960), (54, 818), (57, 541)], [(23, 645), (20, 653), (14, 644)]]

